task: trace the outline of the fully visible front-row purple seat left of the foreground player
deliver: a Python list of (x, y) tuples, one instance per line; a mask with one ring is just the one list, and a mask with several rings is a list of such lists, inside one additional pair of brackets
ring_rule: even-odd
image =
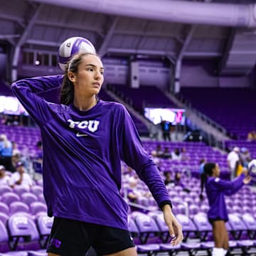
[(27, 242), (36, 241), (38, 243), (39, 234), (32, 218), (26, 215), (11, 215), (7, 223), (9, 235), (11, 238), (10, 246), (15, 250), (21, 238), (23, 238), (23, 245)]

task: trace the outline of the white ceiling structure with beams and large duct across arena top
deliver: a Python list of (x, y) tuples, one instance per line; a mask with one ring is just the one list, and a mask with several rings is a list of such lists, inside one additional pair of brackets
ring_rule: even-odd
[(222, 73), (248, 74), (256, 60), (256, 1), (1, 1), (0, 43), (55, 52), (71, 36), (100, 55), (219, 58)]

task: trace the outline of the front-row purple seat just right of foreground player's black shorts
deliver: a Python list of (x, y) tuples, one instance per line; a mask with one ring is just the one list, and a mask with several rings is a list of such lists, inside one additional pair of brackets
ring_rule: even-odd
[(146, 243), (149, 235), (157, 235), (159, 233), (159, 228), (157, 227), (153, 218), (148, 215), (138, 215), (135, 218), (135, 223), (137, 224), (139, 230), (139, 240), (142, 244)]

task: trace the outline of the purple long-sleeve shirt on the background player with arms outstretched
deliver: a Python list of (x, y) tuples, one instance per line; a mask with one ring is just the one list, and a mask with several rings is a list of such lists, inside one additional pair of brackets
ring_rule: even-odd
[(210, 209), (208, 218), (228, 221), (228, 211), (225, 205), (225, 196), (230, 196), (242, 188), (244, 174), (238, 176), (233, 181), (224, 181), (216, 177), (209, 177), (206, 182), (206, 194), (208, 197)]

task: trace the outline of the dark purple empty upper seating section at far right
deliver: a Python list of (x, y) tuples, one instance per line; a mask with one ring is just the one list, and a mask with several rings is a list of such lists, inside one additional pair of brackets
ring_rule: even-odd
[(256, 91), (249, 88), (181, 87), (181, 96), (196, 110), (223, 126), (232, 137), (245, 139), (256, 129)]

